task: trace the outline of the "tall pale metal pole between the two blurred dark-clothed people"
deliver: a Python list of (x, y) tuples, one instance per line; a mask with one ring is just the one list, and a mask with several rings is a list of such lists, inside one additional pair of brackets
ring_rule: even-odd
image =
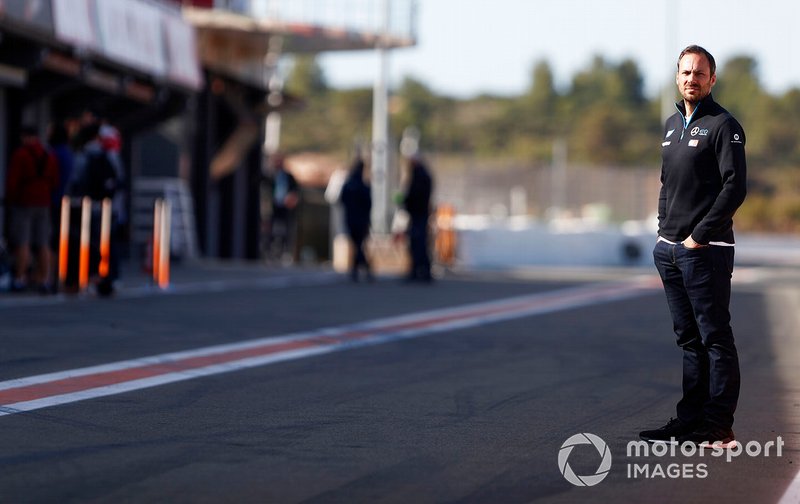
[(372, 228), (377, 233), (386, 233), (389, 229), (389, 51), (386, 45), (390, 0), (383, 0), (382, 7), (383, 33), (378, 39), (378, 75), (372, 93)]

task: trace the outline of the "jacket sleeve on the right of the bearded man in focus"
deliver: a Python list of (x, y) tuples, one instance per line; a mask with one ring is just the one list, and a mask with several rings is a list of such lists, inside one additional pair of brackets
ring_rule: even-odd
[(695, 226), (692, 238), (708, 244), (719, 229), (727, 227), (747, 194), (747, 162), (744, 130), (732, 117), (719, 128), (714, 148), (722, 189), (705, 217)]

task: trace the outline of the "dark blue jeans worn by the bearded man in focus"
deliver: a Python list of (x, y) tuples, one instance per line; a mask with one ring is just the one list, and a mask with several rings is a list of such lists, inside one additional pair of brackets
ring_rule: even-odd
[(739, 357), (733, 341), (733, 247), (687, 249), (659, 241), (653, 250), (678, 346), (683, 349), (683, 398), (678, 419), (733, 425), (739, 400)]

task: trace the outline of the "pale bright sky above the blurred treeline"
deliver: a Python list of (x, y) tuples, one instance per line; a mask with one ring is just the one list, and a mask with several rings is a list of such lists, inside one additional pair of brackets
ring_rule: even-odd
[[(674, 59), (700, 44), (724, 65), (740, 54), (759, 61), (770, 91), (800, 87), (800, 0), (419, 0), (419, 44), (395, 51), (391, 78), (411, 75), (436, 92), (469, 97), (516, 94), (536, 61), (550, 62), (557, 84), (595, 54), (632, 58), (651, 95), (674, 76)], [(672, 17), (672, 29), (668, 26)], [(373, 53), (320, 59), (331, 84), (369, 86)]]

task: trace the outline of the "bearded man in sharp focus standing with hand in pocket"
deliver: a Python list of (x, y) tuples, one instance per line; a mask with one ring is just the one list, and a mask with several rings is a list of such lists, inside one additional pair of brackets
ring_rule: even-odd
[(683, 100), (662, 141), (658, 241), (653, 256), (678, 346), (677, 418), (641, 432), (650, 442), (734, 442), (739, 359), (730, 326), (733, 215), (746, 193), (744, 130), (711, 96), (714, 57), (692, 45), (678, 58)]

